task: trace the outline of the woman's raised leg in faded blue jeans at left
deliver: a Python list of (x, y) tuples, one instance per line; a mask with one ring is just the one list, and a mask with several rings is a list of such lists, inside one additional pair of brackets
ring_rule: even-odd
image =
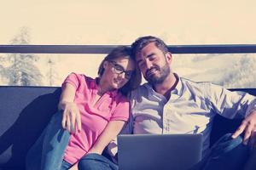
[(52, 116), (26, 155), (26, 170), (59, 170), (70, 134), (61, 127), (62, 112)]

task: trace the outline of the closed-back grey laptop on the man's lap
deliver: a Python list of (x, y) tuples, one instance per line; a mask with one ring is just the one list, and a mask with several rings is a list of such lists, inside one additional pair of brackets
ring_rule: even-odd
[(201, 134), (118, 136), (119, 170), (185, 170), (201, 160)]

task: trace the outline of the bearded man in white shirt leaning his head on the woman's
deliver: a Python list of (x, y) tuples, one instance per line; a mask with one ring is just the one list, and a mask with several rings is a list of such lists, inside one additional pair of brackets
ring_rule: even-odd
[[(255, 143), (255, 97), (230, 92), (210, 82), (178, 77), (172, 71), (172, 54), (160, 38), (140, 37), (131, 47), (148, 83), (131, 93), (128, 133), (202, 133), (204, 159), (195, 169), (241, 169), (249, 151), (244, 144)], [(245, 119), (235, 133), (225, 135), (209, 150), (216, 113), (230, 119)], [(112, 154), (114, 146), (109, 145)], [(232, 150), (237, 154), (230, 155)]]

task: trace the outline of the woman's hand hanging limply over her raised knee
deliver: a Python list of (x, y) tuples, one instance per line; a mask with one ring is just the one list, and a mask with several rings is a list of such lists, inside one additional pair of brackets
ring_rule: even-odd
[(73, 102), (65, 102), (61, 105), (63, 109), (62, 127), (69, 133), (81, 131), (81, 116), (78, 106)]

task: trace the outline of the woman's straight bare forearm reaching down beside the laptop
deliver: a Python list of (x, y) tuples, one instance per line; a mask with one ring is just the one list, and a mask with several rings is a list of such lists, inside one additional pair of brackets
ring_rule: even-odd
[(96, 140), (96, 143), (90, 148), (88, 153), (102, 154), (102, 151), (114, 139), (125, 126), (125, 121), (110, 121), (107, 127)]

